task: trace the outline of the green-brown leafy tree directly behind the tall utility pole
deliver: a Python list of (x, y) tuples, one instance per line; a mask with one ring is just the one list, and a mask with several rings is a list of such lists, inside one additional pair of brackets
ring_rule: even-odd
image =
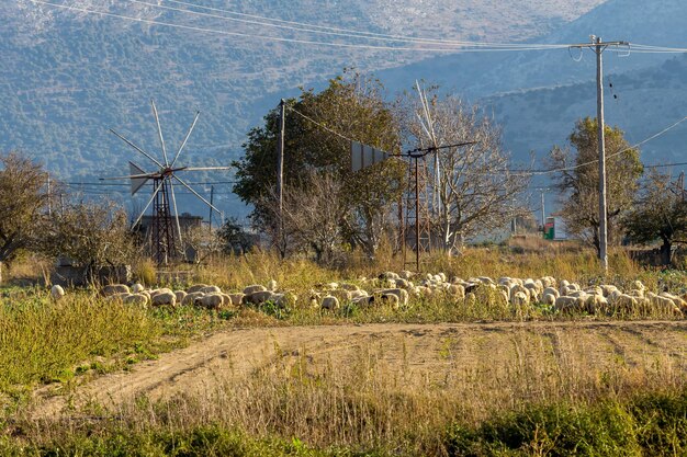
[[(621, 219), (631, 208), (643, 173), (640, 152), (630, 147), (622, 130), (606, 126), (606, 188), (609, 244), (622, 233)], [(577, 121), (568, 137), (570, 147), (555, 146), (550, 164), (559, 170), (554, 181), (563, 204), (561, 214), (567, 230), (599, 251), (599, 165), (597, 122), (586, 117)]]

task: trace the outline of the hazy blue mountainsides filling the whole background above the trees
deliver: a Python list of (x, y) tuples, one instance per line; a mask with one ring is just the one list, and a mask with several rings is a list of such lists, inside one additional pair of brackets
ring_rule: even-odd
[[(82, 0), (64, 1), (87, 4)], [(346, 3), (273, 0), (227, 5), (217, 0), (203, 4), (398, 35), (571, 43), (585, 42), (589, 33), (598, 33), (606, 39), (680, 45), (682, 27), (676, 24), (687, 16), (687, 4), (677, 0), (661, 2), (661, 8), (639, 0), (609, 0), (558, 27), (601, 2), (486, 1), (457, 5), (450, 0), (425, 0), (418, 5), (409, 0)], [(229, 23), (125, 1), (90, 0), (88, 5), (93, 9), (108, 5), (108, 11), (187, 26), (314, 39), (295, 31)], [(409, 88), (417, 78), (442, 83), (473, 100), (484, 99), (487, 110), (503, 121), (506, 145), (518, 160), (523, 160), (530, 150), (541, 155), (553, 144), (564, 142), (574, 118), (595, 114), (590, 53), (581, 62), (575, 62), (565, 50), (449, 55), (420, 60), (428, 55), (296, 46), (213, 35), (36, 8), (29, 0), (0, 4), (0, 57), (5, 62), (0, 67), (0, 149), (22, 149), (43, 159), (59, 178), (74, 181), (121, 174), (126, 171), (126, 160), (138, 159), (108, 133), (109, 128), (159, 155), (149, 107), (151, 98), (160, 110), (170, 149), (183, 138), (194, 111), (202, 111), (184, 163), (226, 164), (240, 153), (240, 142), (248, 129), (281, 96), (295, 93), (299, 85), (322, 85), (326, 78), (350, 66), (374, 71), (391, 93)], [(547, 32), (550, 33), (537, 37)], [(640, 87), (643, 79), (667, 77), (654, 70), (669, 57), (609, 55), (607, 71), (627, 73), (634, 84), (632, 89), (623, 88), (621, 100), (646, 99), (644, 106), (633, 104), (632, 110), (642, 114), (652, 112), (646, 107), (651, 98), (661, 99), (668, 112), (678, 110), (680, 96), (665, 96), (660, 88)], [(676, 71), (683, 75), (683, 70), (680, 65)], [(637, 75), (632, 76), (633, 72)], [(536, 87), (552, 89), (531, 89)], [(637, 95), (632, 92), (635, 90)], [(498, 92), (503, 94), (494, 95)], [(633, 116), (629, 110), (624, 112)], [(651, 124), (613, 122), (612, 108), (609, 119), (621, 126)], [(674, 146), (671, 148), (671, 155), (677, 153)], [(212, 179), (229, 176), (224, 173)]]

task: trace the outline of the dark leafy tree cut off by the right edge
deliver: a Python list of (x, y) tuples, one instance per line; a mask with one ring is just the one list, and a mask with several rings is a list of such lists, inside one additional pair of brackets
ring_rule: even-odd
[(687, 198), (669, 174), (655, 169), (649, 174), (634, 207), (623, 218), (630, 241), (649, 244), (661, 240), (661, 259), (672, 263), (675, 243), (687, 243)]

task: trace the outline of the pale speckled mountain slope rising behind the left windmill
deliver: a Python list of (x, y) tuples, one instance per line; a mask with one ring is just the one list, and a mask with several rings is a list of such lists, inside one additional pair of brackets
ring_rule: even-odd
[[(30, 0), (0, 2), (0, 150), (23, 150), (43, 160), (57, 178), (72, 182), (122, 174), (127, 170), (127, 160), (139, 161), (140, 157), (111, 135), (109, 128), (159, 156), (149, 99), (155, 99), (160, 110), (170, 149), (181, 142), (194, 111), (202, 111), (182, 164), (226, 164), (240, 153), (246, 132), (259, 123), (281, 94), (324, 81), (345, 66), (379, 70), (426, 57), (423, 53), (304, 46), (200, 31), (327, 38), (228, 22), (216, 18), (227, 15), (218, 11), (212, 11), (212, 16), (207, 15), (209, 10), (204, 10), (206, 15), (198, 15), (131, 0), (54, 1), (70, 8), (194, 27), (157, 26), (38, 5)], [(213, 0), (203, 4), (376, 33), (521, 41), (542, 28), (552, 30), (600, 1), (572, 4), (534, 0), (527, 8), (515, 1), (495, 0), (461, 7), (452, 0), (428, 0), (421, 8), (410, 0), (272, 0), (230, 7)], [(158, 3), (180, 8), (178, 3)], [(533, 10), (538, 13), (532, 14)], [(264, 98), (268, 93), (275, 95)], [(147, 168), (145, 159), (140, 162)], [(229, 178), (224, 173), (198, 180)], [(109, 195), (117, 190), (76, 188)], [(125, 192), (124, 188), (119, 190)], [(229, 197), (227, 186), (217, 193), (221, 198)], [(144, 198), (138, 197), (134, 205), (142, 206)], [(229, 204), (225, 202), (224, 207)]]

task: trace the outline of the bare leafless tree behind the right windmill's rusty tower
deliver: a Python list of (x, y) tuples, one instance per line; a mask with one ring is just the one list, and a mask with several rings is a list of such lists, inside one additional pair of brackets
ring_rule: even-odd
[(522, 214), (516, 202), (529, 179), (508, 170), (510, 157), (503, 149), (500, 129), (481, 114), (478, 106), (455, 96), (436, 95), (427, 110), (416, 98), (402, 106), (405, 136), (413, 145), (426, 148), (474, 141), (437, 149), (425, 158), (430, 171), (432, 231), (439, 233), (449, 254), (460, 252), (465, 239), (503, 228)]

